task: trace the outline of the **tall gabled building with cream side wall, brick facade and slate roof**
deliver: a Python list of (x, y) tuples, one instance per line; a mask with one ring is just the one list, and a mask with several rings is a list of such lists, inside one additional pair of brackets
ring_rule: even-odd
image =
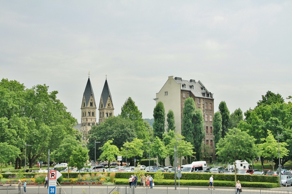
[[(206, 136), (202, 141), (213, 148), (213, 158), (215, 157), (215, 146), (213, 142), (213, 116), (214, 98), (201, 81), (194, 79), (183, 80), (180, 77), (169, 76), (161, 90), (156, 93), (156, 104), (161, 101), (164, 104), (165, 113), (171, 109), (174, 112), (176, 132), (181, 134), (183, 119), (183, 107), (185, 99), (192, 97), (196, 104), (196, 109), (201, 109), (205, 120)], [(165, 118), (166, 121), (166, 118)], [(167, 121), (166, 121), (167, 127)]]

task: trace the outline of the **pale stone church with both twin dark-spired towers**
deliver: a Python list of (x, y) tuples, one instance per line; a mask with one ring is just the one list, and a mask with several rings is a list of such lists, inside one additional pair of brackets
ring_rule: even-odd
[[(98, 111), (96, 110), (97, 108)], [(100, 95), (100, 101), (97, 105), (90, 78), (88, 76), (81, 104), (81, 123), (79, 132), (82, 133), (82, 139), (87, 141), (86, 136), (88, 135), (92, 125), (98, 125), (98, 123), (104, 122), (105, 119), (113, 115), (114, 105), (112, 102), (112, 95), (109, 91), (107, 78), (105, 78), (105, 84)], [(96, 116), (99, 117), (98, 123), (96, 122)]]

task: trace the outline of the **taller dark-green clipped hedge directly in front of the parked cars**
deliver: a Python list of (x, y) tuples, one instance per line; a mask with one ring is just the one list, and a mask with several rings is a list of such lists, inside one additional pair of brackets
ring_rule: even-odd
[[(133, 172), (117, 172), (117, 179), (127, 179)], [(155, 179), (155, 172), (145, 172)], [(164, 179), (174, 180), (173, 172), (163, 173)], [(234, 174), (218, 174), (218, 173), (182, 173), (180, 180), (209, 180), (213, 175), (214, 181), (234, 181)], [(266, 175), (252, 175), (252, 174), (237, 174), (237, 180), (245, 182), (261, 182), (261, 183), (279, 183), (279, 176), (266, 176)]]

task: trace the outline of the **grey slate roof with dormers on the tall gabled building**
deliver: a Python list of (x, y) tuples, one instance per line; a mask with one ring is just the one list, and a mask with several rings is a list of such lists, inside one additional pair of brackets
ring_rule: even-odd
[[(213, 94), (209, 92), (200, 81), (196, 82), (194, 79), (183, 80), (179, 77), (175, 77), (174, 80), (176, 81), (176, 83), (185, 84), (185, 88), (182, 88), (182, 90), (192, 92), (195, 97), (213, 99)], [(190, 87), (192, 85), (194, 86), (194, 89)], [(209, 97), (207, 97), (207, 95), (204, 96), (203, 94), (205, 93), (209, 94)]]

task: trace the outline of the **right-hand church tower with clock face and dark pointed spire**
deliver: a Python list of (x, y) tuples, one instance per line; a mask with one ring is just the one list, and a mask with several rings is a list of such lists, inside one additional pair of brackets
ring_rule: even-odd
[(105, 85), (103, 86), (99, 102), (99, 123), (104, 122), (106, 118), (114, 115), (114, 105), (112, 103), (112, 95), (109, 91), (107, 78), (105, 78)]

